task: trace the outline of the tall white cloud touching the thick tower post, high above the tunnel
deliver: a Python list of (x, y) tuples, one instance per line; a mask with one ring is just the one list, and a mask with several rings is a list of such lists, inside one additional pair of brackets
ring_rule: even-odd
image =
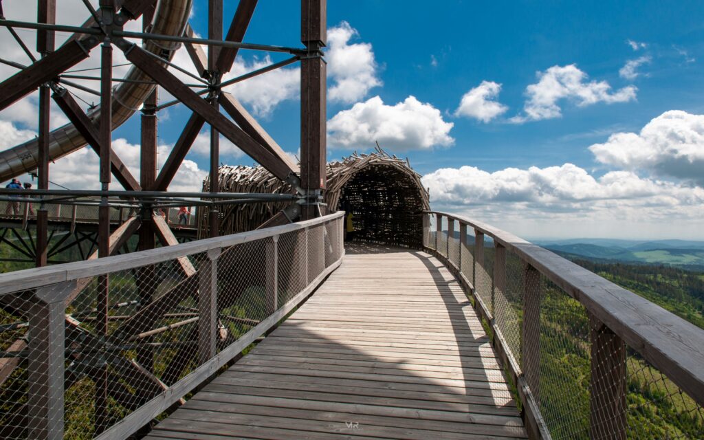
[(372, 45), (350, 44), (350, 40), (358, 35), (346, 21), (327, 31), (327, 75), (334, 82), (328, 90), (331, 101), (352, 103), (367, 96), (372, 87), (382, 85), (377, 77)]

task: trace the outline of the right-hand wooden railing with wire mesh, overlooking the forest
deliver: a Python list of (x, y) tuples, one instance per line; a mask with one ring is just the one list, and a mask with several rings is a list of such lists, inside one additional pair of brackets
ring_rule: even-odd
[(704, 330), (555, 253), (428, 212), (425, 250), (467, 291), (532, 438), (704, 439)]

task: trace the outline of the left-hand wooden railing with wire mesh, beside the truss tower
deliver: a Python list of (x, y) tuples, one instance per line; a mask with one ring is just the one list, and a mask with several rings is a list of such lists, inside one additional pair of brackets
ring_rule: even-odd
[(343, 215), (0, 275), (0, 438), (149, 425), (339, 266)]

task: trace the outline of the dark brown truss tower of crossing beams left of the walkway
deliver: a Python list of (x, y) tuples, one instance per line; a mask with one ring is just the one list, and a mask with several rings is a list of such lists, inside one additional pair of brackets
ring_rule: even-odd
[[(70, 27), (56, 24), (56, 0), (38, 0), (37, 23), (24, 23), (6, 20), (1, 8), (0, 0), (0, 26), (6, 27), (18, 44), (25, 49), (25, 53), (32, 61), (29, 65), (15, 63), (14, 61), (0, 60), (2, 63), (13, 65), (19, 71), (15, 75), (0, 82), (0, 111), (11, 106), (12, 103), (22, 99), (27, 94), (39, 89), (39, 154), (38, 154), (38, 190), (34, 191), (31, 199), (23, 201), (39, 201), (42, 206), (37, 210), (36, 234), (34, 241), (35, 263), (37, 266), (46, 265), (49, 258), (66, 243), (54, 243), (49, 246), (48, 217), (45, 205), (48, 203), (97, 203), (100, 207), (99, 224), (96, 232), (96, 247), (87, 252), (90, 258), (109, 256), (118, 252), (133, 234), (139, 234), (138, 250), (153, 249), (156, 241), (161, 241), (163, 246), (170, 246), (178, 242), (168, 224), (158, 215), (154, 215), (154, 208), (182, 204), (180, 199), (191, 199), (189, 203), (200, 203), (212, 207), (222, 203), (256, 203), (271, 200), (276, 196), (271, 194), (220, 194), (218, 188), (218, 168), (220, 163), (219, 136), (229, 139), (251, 158), (269, 170), (272, 175), (286, 182), (296, 191), (294, 195), (285, 195), (282, 198), (290, 200), (291, 206), (275, 215), (263, 226), (281, 225), (300, 219), (308, 220), (321, 213), (322, 191), (325, 189), (325, 100), (326, 100), (326, 68), (323, 59), (322, 47), (326, 43), (326, 0), (301, 0), (301, 43), (303, 47), (282, 47), (265, 44), (244, 43), (244, 35), (254, 13), (257, 0), (240, 0), (232, 22), (223, 34), (222, 0), (208, 0), (208, 38), (193, 37), (193, 31), (187, 25), (182, 35), (170, 36), (153, 34), (149, 32), (149, 25), (153, 19), (156, 0), (99, 0), (99, 9), (95, 10), (88, 1), (87, 6), (91, 18), (82, 27)], [(123, 26), (128, 20), (143, 16), (143, 32), (126, 32)], [(14, 28), (30, 28), (37, 30), (37, 59), (22, 42)], [(55, 47), (55, 32), (74, 32), (65, 44), (58, 49)], [(173, 75), (165, 65), (171, 65), (167, 59), (161, 58), (145, 51), (137, 44), (126, 38), (141, 39), (144, 41), (179, 42), (186, 46), (191, 61), (200, 73), (195, 77), (199, 84), (182, 82)], [(208, 47), (207, 54), (200, 45)], [(88, 58), (90, 51), (100, 46), (101, 75), (99, 78), (100, 90), (96, 92), (88, 87), (72, 82), (77, 75), (67, 73), (74, 65)], [(175, 101), (159, 105), (157, 89), (146, 98), (142, 106), (141, 127), (141, 159), (139, 176), (132, 175), (127, 166), (122, 163), (111, 146), (111, 122), (113, 81), (113, 50), (117, 48), (124, 52), (127, 61), (142, 70), (150, 80), (148, 83), (158, 84), (167, 90)], [(230, 71), (240, 49), (259, 51), (273, 51), (291, 54), (292, 57), (279, 63), (253, 71), (246, 75), (223, 82), (222, 77)], [(258, 124), (251, 114), (241, 106), (235, 96), (223, 91), (223, 87), (244, 81), (256, 75), (282, 68), (291, 63), (301, 63), (301, 164), (291, 161), (291, 158)], [(175, 66), (177, 67), (177, 66)], [(202, 84), (200, 84), (202, 83)], [(149, 84), (147, 84), (149, 85)], [(100, 97), (98, 111), (99, 122), (95, 123), (66, 87), (77, 87)], [(73, 191), (49, 191), (49, 117), (50, 101), (54, 101), (65, 113), (70, 122), (82, 134), (89, 146), (98, 153), (100, 158), (101, 190), (93, 194), (77, 194)], [(157, 172), (156, 168), (156, 133), (158, 111), (175, 103), (183, 103), (191, 111), (191, 117), (184, 126), (180, 137), (170, 152), (163, 168)], [(221, 113), (224, 111), (225, 114)], [(233, 122), (234, 121), (234, 122)], [(187, 155), (196, 136), (204, 124), (210, 125), (210, 173), (209, 188), (207, 193), (201, 194), (167, 194), (167, 189), (175, 176), (182, 161)], [(125, 191), (111, 190), (111, 183), (117, 180)], [(119, 193), (119, 194), (118, 194)], [(11, 194), (8, 191), (0, 193), (6, 198)], [(30, 195), (25, 191), (23, 195)], [(86, 201), (87, 196), (98, 197), (99, 201)], [(111, 199), (117, 197), (118, 199)], [(16, 200), (16, 197), (15, 197)], [(130, 217), (129, 220), (111, 230), (110, 208), (111, 204), (121, 203), (126, 206), (142, 206), (141, 215)], [(211, 236), (218, 235), (220, 213), (217, 209), (210, 209), (208, 229)], [(10, 232), (12, 234), (15, 232)], [(2, 232), (2, 241), (5, 234)], [(89, 240), (89, 234), (77, 232), (80, 242)], [(31, 239), (31, 234), (28, 235)], [(68, 240), (68, 239), (66, 239)], [(31, 249), (29, 244), (22, 245), (23, 251)], [(25, 249), (27, 248), (27, 249)], [(26, 252), (28, 258), (32, 252)], [(186, 260), (180, 261), (180, 268), (186, 277), (195, 276), (196, 271)], [(91, 339), (92, 344), (100, 346), (103, 339), (108, 336), (108, 311), (112, 305), (108, 297), (108, 277), (103, 275), (99, 279), (98, 294), (96, 295), (95, 315), (92, 316), (96, 337)], [(148, 290), (148, 289), (147, 289)], [(169, 295), (167, 292), (165, 295)], [(143, 291), (140, 295), (139, 313), (146, 315), (159, 312), (159, 298), (153, 297), (153, 292)], [(75, 322), (67, 321), (67, 328), (74, 329)], [(73, 330), (72, 330), (73, 331)], [(71, 332), (67, 331), (67, 346)], [(76, 339), (77, 341), (78, 339)], [(19, 344), (18, 346), (21, 346)], [(153, 365), (150, 363), (152, 351), (148, 347), (138, 348), (139, 356), (135, 363), (142, 365), (147, 374)], [(108, 398), (111, 397), (111, 377), (107, 366), (92, 368), (91, 378), (95, 383), (95, 414), (96, 434), (106, 429), (109, 425), (106, 411)], [(0, 377), (0, 382), (1, 382)], [(69, 385), (70, 386), (70, 385)], [(144, 390), (137, 390), (142, 393)], [(18, 414), (18, 417), (22, 417)], [(17, 426), (23, 426), (18, 419)]]

